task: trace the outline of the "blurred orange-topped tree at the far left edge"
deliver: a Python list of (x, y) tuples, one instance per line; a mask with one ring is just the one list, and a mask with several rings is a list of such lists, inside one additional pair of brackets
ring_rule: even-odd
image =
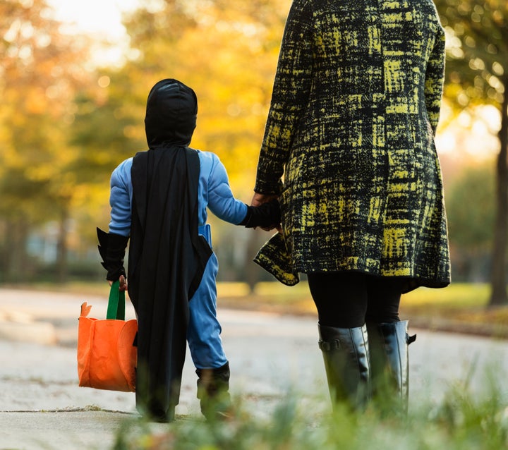
[(63, 35), (44, 0), (0, 2), (0, 260), (5, 279), (25, 279), (31, 226), (61, 223), (59, 269), (64, 276), (66, 220), (73, 195), (73, 159), (66, 130), (72, 97), (83, 82), (85, 42)]

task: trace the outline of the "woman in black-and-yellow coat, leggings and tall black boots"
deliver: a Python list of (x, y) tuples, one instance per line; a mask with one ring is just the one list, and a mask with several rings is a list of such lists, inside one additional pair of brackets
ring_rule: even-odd
[(332, 397), (353, 406), (387, 368), (406, 403), (401, 293), (449, 284), (443, 70), (431, 0), (291, 6), (253, 197), (280, 196), (282, 234), (256, 260), (286, 284), (308, 274)]

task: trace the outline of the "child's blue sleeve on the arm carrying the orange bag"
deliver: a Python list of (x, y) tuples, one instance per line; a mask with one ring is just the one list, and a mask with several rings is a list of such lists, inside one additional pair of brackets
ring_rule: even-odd
[(132, 158), (126, 159), (111, 174), (111, 221), (109, 232), (129, 236), (131, 234), (131, 181)]

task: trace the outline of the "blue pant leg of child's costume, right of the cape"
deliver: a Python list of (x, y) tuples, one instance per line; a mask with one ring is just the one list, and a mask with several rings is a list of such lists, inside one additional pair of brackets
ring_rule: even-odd
[(212, 253), (198, 290), (189, 302), (187, 341), (197, 369), (214, 369), (227, 363), (220, 337), (222, 328), (217, 320), (218, 269), (217, 257)]

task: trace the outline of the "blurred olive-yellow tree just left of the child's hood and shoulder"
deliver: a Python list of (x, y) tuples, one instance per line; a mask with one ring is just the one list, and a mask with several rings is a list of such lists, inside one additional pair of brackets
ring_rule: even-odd
[(111, 171), (146, 145), (143, 116), (132, 111), (133, 105), (137, 107), (144, 100), (132, 98), (129, 85), (133, 80), (123, 78), (121, 72), (97, 69), (94, 83), (75, 97), (75, 120), (69, 135), (75, 158), (67, 170), (74, 174), (74, 215), (87, 245), (97, 241), (95, 226), (107, 229)]

